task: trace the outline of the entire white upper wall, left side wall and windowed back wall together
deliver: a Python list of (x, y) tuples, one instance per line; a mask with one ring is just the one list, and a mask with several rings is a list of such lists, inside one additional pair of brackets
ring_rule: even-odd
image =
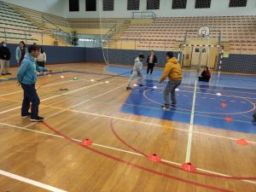
[[(114, 11), (102, 11), (102, 0), (96, 0), (97, 11), (85, 11), (85, 0), (79, 0), (79, 12), (68, 11), (68, 0), (3, 0), (26, 8), (37, 9), (67, 18), (131, 18), (127, 0), (114, 0)], [(256, 0), (247, 0), (245, 8), (229, 8), (230, 0), (212, 0), (210, 9), (195, 9), (195, 0), (187, 0), (187, 9), (172, 9), (172, 0), (160, 0), (160, 9), (152, 10), (158, 17), (207, 15), (256, 15)], [(147, 10), (147, 0), (140, 0), (140, 10)]]

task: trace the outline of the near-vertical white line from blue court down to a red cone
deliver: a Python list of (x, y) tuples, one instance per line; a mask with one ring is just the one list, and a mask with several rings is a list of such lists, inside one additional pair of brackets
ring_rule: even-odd
[(186, 163), (190, 162), (190, 154), (191, 154), (191, 147), (192, 147), (192, 135), (193, 135), (193, 125), (194, 125), (194, 115), (195, 115), (195, 96), (196, 96), (196, 81), (195, 81), (195, 88), (194, 88), (194, 95), (193, 95), (193, 102), (192, 102), (192, 109), (191, 109), (191, 116), (190, 116), (190, 124), (189, 124), (189, 138), (188, 138), (186, 160), (185, 160)]

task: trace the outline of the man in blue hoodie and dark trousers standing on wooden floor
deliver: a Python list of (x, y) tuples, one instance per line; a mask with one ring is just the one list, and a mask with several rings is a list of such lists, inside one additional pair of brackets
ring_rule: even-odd
[[(24, 90), (24, 98), (21, 108), (21, 117), (26, 118), (31, 116), (31, 121), (40, 122), (43, 121), (43, 117), (38, 116), (38, 106), (40, 99), (35, 88), (35, 84), (38, 80), (37, 72), (47, 72), (47, 68), (38, 67), (35, 59), (40, 54), (39, 47), (36, 44), (32, 44), (28, 48), (28, 54), (25, 55), (22, 65), (17, 73), (17, 79)], [(30, 108), (30, 102), (32, 103), (31, 113), (28, 112)]]

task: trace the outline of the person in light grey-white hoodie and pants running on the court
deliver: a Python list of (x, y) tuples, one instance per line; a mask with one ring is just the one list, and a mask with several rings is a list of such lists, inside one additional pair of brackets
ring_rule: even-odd
[(131, 88), (131, 81), (133, 79), (135, 79), (136, 77), (139, 77), (139, 85), (143, 86), (143, 81), (144, 81), (144, 77), (143, 77), (143, 59), (144, 59), (144, 55), (140, 54), (137, 56), (137, 58), (134, 61), (134, 67), (131, 73), (131, 77), (128, 81), (126, 90), (132, 90)]

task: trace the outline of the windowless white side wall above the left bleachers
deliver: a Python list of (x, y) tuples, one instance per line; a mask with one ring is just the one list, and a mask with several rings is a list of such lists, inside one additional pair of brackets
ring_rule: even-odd
[[(6, 3), (12, 3), (28, 9), (35, 9), (52, 15), (65, 16), (63, 0), (1, 0)], [(68, 10), (68, 9), (67, 9)]]

